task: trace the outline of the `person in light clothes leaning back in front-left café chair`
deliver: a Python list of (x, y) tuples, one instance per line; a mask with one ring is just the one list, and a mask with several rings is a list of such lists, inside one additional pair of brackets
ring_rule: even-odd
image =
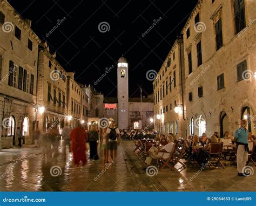
[[(156, 147), (151, 147), (149, 149), (149, 156), (146, 157), (145, 163), (146, 167), (150, 166), (152, 159), (167, 159), (170, 156), (170, 153), (172, 152), (173, 149), (173, 136), (169, 135), (167, 137), (167, 145), (156, 148)], [(144, 170), (146, 169), (143, 168)]]

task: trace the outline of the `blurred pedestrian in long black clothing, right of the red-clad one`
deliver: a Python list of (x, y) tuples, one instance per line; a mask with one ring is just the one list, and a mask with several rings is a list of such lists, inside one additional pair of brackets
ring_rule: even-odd
[(89, 138), (89, 144), (90, 144), (90, 159), (94, 162), (95, 160), (99, 159), (98, 156), (98, 150), (97, 150), (97, 146), (98, 146), (98, 139), (99, 139), (99, 131), (96, 128), (95, 125), (92, 125), (88, 134)]

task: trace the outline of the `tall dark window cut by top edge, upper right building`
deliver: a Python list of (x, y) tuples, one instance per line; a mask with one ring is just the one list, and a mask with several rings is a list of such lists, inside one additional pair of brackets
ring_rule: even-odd
[(239, 33), (245, 28), (245, 2), (244, 0), (234, 1), (234, 22), (235, 33)]

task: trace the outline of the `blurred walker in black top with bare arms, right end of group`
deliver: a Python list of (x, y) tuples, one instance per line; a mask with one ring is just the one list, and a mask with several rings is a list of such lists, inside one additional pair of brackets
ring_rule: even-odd
[(109, 139), (108, 148), (112, 161), (116, 159), (117, 156), (117, 145), (120, 145), (120, 132), (116, 127), (116, 122), (111, 121), (110, 127), (107, 128), (107, 138)]

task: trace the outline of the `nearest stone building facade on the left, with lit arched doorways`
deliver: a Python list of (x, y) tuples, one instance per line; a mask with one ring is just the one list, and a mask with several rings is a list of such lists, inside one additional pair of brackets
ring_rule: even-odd
[(0, 148), (10, 148), (18, 145), (18, 127), (24, 143), (33, 142), (41, 40), (31, 30), (31, 21), (5, 0), (0, 2), (0, 28)]

